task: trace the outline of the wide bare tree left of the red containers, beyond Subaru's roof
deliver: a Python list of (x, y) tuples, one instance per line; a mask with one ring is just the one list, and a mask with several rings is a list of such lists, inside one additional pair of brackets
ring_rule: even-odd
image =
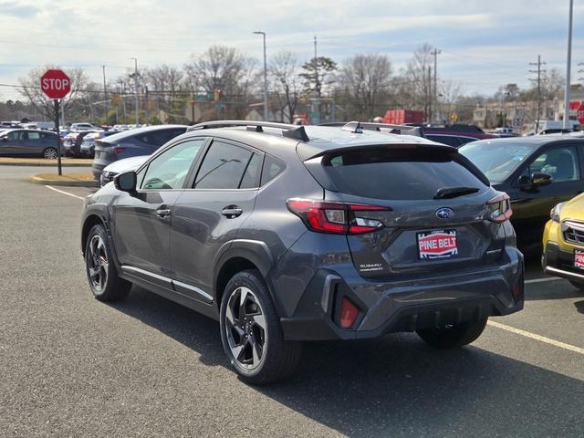
[(340, 69), (339, 82), (349, 108), (350, 119), (370, 120), (380, 115), (381, 101), (387, 99), (391, 85), (391, 62), (385, 55), (349, 57)]

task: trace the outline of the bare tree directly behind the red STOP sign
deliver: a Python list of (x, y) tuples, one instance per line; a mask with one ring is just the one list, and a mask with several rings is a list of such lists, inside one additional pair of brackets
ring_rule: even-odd
[[(44, 114), (47, 118), (55, 119), (55, 110), (53, 99), (49, 99), (40, 89), (40, 77), (50, 68), (57, 66), (38, 67), (30, 70), (25, 77), (20, 78), (21, 89), (18, 92), (26, 98), (35, 109)], [(90, 86), (89, 78), (82, 68), (65, 69), (68, 77), (71, 79), (71, 91), (61, 99), (61, 108), (63, 111), (69, 110), (74, 103), (83, 104), (91, 101), (92, 89), (97, 89), (95, 84)]]

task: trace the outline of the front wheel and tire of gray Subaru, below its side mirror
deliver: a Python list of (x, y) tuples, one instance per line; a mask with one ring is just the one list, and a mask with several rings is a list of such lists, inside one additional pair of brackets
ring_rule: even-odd
[(110, 241), (103, 225), (94, 225), (85, 242), (85, 268), (89, 287), (99, 301), (118, 301), (130, 292), (131, 283), (118, 276)]

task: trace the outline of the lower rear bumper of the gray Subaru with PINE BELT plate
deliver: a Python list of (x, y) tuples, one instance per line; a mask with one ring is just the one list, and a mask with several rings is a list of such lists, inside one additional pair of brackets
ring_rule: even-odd
[[(523, 255), (507, 247), (498, 264), (421, 279), (374, 282), (320, 269), (292, 315), (280, 318), (286, 339), (366, 339), (386, 333), (508, 315), (524, 305)], [(340, 328), (339, 307), (360, 308), (353, 328)]]

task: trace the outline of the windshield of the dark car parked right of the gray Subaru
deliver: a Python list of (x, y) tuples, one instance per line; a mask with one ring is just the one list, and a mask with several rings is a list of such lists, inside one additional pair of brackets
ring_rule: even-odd
[(537, 144), (474, 141), (458, 151), (478, 167), (492, 184), (503, 183), (537, 149)]

